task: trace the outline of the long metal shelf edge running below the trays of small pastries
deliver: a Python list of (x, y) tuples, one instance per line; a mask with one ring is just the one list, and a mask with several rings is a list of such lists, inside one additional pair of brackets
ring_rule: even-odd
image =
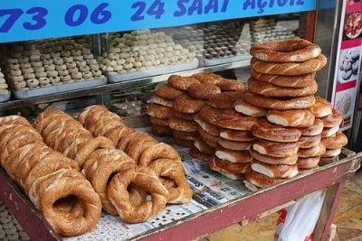
[(142, 78), (142, 79), (132, 79), (127, 80), (119, 83), (113, 83), (108, 84), (105, 86), (99, 86), (99, 87), (92, 87), (92, 88), (82, 88), (77, 90), (71, 90), (63, 93), (56, 93), (46, 96), (40, 96), (40, 97), (31, 97), (27, 99), (22, 100), (10, 100), (8, 102), (0, 103), (0, 111), (10, 110), (14, 108), (21, 108), (21, 107), (30, 107), (37, 104), (43, 104), (43, 103), (49, 103), (49, 102), (55, 102), (60, 100), (66, 100), (76, 97), (86, 97), (86, 96), (92, 96), (92, 95), (99, 95), (102, 93), (107, 93), (113, 90), (118, 90), (119, 88), (135, 88), (151, 83), (157, 83), (167, 80), (167, 78), (173, 74), (183, 75), (183, 76), (189, 76), (195, 73), (204, 72), (204, 71), (222, 71), (222, 70), (231, 70), (235, 68), (242, 68), (250, 65), (250, 60), (242, 60), (242, 61), (236, 61), (232, 63), (224, 63), (220, 65), (205, 67), (205, 68), (198, 68), (195, 70), (185, 70), (185, 71), (179, 71), (174, 73), (168, 73), (165, 75), (158, 75), (154, 77), (148, 77), (148, 78)]

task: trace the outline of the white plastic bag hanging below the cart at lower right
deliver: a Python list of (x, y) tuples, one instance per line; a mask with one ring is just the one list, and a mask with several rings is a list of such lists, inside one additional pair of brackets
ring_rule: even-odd
[(275, 232), (275, 241), (310, 241), (326, 196), (321, 190), (282, 209)]

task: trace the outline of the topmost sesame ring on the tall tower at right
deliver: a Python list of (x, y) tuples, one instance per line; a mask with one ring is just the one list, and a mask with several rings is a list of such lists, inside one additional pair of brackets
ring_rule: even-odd
[(256, 43), (250, 54), (268, 62), (304, 62), (319, 57), (318, 45), (303, 39)]

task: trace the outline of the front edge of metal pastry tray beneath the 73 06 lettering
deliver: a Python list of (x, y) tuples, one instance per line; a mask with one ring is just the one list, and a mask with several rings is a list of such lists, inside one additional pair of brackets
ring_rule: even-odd
[(64, 84), (61, 86), (51, 86), (51, 87), (37, 88), (37, 89), (32, 89), (32, 90), (25, 90), (25, 91), (13, 91), (13, 93), (14, 93), (14, 97), (16, 99), (24, 99), (24, 98), (30, 98), (30, 97), (46, 96), (46, 95), (50, 95), (50, 94), (66, 92), (66, 91), (80, 89), (80, 88), (90, 88), (90, 87), (102, 86), (105, 84), (107, 84), (107, 78), (91, 79), (91, 80), (85, 80), (85, 81), (77, 82), (77, 83)]

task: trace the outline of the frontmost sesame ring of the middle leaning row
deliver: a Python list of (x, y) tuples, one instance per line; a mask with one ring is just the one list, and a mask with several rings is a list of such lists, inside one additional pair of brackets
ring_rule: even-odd
[[(148, 191), (151, 200), (135, 206), (129, 199), (128, 187), (131, 183)], [(136, 167), (116, 174), (110, 181), (107, 196), (117, 209), (119, 217), (128, 223), (148, 221), (166, 208), (169, 191), (159, 181), (156, 173), (148, 167)]]

